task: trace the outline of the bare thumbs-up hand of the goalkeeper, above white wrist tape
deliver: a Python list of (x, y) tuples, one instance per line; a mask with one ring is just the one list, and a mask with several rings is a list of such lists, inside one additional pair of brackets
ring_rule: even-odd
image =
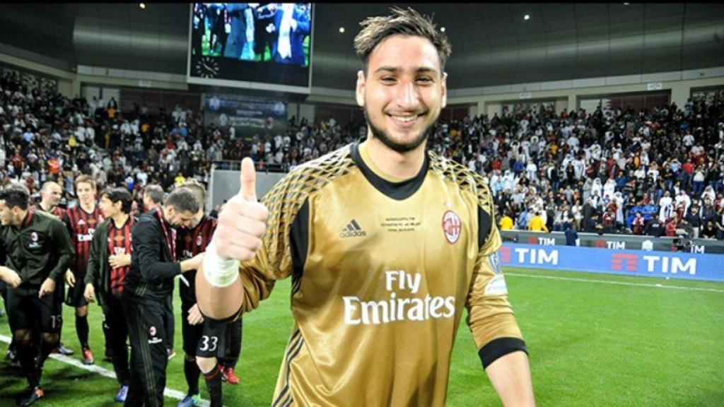
[(245, 261), (261, 248), (269, 210), (256, 201), (256, 172), (250, 158), (241, 161), (241, 188), (224, 206), (214, 232), (214, 249), (222, 260)]

